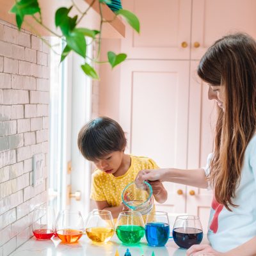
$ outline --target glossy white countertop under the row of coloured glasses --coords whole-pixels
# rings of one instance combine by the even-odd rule
[[[131,256],[152,256],[153,251],[156,256],[186,255],[186,250],[179,248],[173,242],[173,239],[169,239],[164,247],[148,246],[145,237],[136,246],[125,246],[115,235],[108,243],[95,245],[84,235],[77,243],[73,244],[62,243],[57,237],[45,241],[39,241],[35,237],[32,237],[10,256],[115,256],[116,250],[118,250],[120,256],[124,256],[127,248],[129,248]]]

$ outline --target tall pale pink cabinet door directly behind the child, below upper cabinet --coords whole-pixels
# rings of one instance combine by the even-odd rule
[[[129,152],[161,168],[186,168],[189,61],[128,60],[122,65],[120,124]],[[184,212],[186,186],[166,183],[167,212]],[[181,189],[183,195],[178,195]],[[160,208],[159,208],[160,209]]]

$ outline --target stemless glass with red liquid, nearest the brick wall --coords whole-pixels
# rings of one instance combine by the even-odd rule
[[[33,212],[32,231],[38,240],[51,239],[54,235],[54,209],[47,205],[36,206]]]

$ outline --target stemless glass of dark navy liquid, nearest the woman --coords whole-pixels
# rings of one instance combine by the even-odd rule
[[[173,240],[181,248],[188,249],[193,244],[200,244],[203,239],[203,229],[198,216],[177,216],[173,225]]]

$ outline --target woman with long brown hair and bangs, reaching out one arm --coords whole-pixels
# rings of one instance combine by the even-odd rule
[[[206,244],[187,255],[256,255],[256,42],[224,36],[200,60],[198,76],[218,103],[214,150],[197,170],[142,170],[136,177],[214,189]]]

